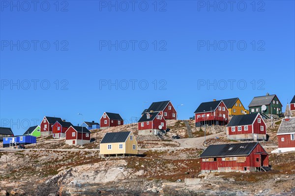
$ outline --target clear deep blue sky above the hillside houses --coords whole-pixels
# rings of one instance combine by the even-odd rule
[[[188,119],[212,99],[269,92],[285,110],[295,94],[294,1],[28,2],[0,2],[0,125],[16,135],[45,115],[130,121],[171,100]]]

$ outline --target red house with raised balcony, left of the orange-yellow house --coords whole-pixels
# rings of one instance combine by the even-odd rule
[[[222,100],[201,103],[195,113],[196,127],[203,125],[226,125],[229,120],[229,110]]]

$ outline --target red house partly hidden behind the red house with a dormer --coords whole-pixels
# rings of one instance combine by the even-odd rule
[[[171,101],[153,102],[148,109],[144,110],[142,116],[147,112],[160,112],[161,115],[167,119],[177,119],[177,112]]]

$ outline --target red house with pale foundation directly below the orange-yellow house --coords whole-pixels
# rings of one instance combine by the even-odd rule
[[[228,140],[266,140],[266,123],[260,113],[234,115],[226,134]]]

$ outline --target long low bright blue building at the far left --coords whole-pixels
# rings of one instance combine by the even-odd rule
[[[31,144],[36,143],[36,137],[35,136],[13,136],[13,137],[6,137],[3,138],[3,148],[9,147],[10,145],[21,145],[21,144]],[[11,143],[11,144],[10,144]]]

